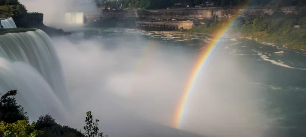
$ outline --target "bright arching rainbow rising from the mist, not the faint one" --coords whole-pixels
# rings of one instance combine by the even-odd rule
[[[246,1],[245,3],[243,3],[241,6],[246,6],[247,4],[249,4],[250,1]],[[234,16],[238,16],[239,14],[241,14],[243,12],[243,10],[234,10],[236,11],[236,13],[234,13]],[[195,82],[197,80],[197,77],[199,76],[203,66],[205,66],[206,62],[208,62],[210,55],[213,53],[215,47],[218,45],[220,38],[223,37],[224,33],[227,31],[228,27],[230,27],[234,21],[237,18],[227,22],[221,29],[219,29],[215,35],[213,36],[213,42],[209,43],[209,45],[206,46],[205,49],[203,49],[200,53],[199,56],[197,57],[194,66],[192,67],[191,70],[191,74],[187,80],[187,85],[184,88],[183,94],[181,95],[179,104],[176,106],[176,110],[174,112],[174,120],[173,120],[173,127],[174,128],[180,128],[182,119],[183,119],[183,115],[184,115],[184,111],[186,109],[186,105],[188,102],[188,98],[190,96],[190,94],[192,93],[192,89],[195,85]]]

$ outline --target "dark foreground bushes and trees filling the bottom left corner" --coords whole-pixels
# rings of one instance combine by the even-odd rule
[[[94,120],[90,111],[86,113],[85,133],[67,125],[58,124],[49,114],[40,116],[37,121],[30,124],[27,112],[24,111],[22,106],[17,105],[14,98],[16,94],[17,90],[8,91],[0,99],[0,136],[103,137],[103,133],[98,132],[97,122],[99,120]]]

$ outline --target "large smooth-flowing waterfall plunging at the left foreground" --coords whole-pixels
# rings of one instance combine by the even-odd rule
[[[61,64],[42,30],[0,35],[0,93],[14,89],[31,118],[65,112],[69,101]]]

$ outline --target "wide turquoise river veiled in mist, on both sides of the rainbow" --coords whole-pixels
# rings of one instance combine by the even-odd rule
[[[100,109],[117,114],[110,106],[119,106],[131,115],[166,126],[172,126],[173,112],[194,61],[215,41],[210,35],[125,28],[66,31],[72,32],[65,37],[72,46],[63,46],[61,38],[53,40],[71,93],[103,89],[124,101],[105,95],[108,105]],[[278,51],[284,54],[274,53]],[[301,122],[306,110],[305,76],[306,52],[221,38],[194,83],[179,128],[217,136],[301,135],[305,125]],[[94,88],[85,88],[89,86]],[[84,95],[71,94],[71,98],[78,100]],[[114,122],[119,117],[126,120],[121,114],[105,119]]]

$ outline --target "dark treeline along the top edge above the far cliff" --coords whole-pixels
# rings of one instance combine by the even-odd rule
[[[195,6],[208,2],[208,0],[119,0],[115,2],[106,0],[96,0],[98,7],[112,6],[118,7],[122,5],[127,9],[165,9],[177,7],[176,3],[182,5]],[[211,0],[216,6],[219,7],[235,7],[240,5],[248,6],[269,6],[269,7],[286,7],[286,6],[305,6],[304,0]]]

